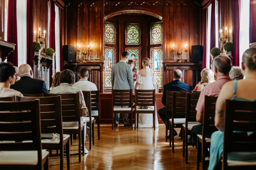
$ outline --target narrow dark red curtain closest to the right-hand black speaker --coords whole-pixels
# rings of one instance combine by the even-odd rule
[[[207,35],[207,8],[203,9],[203,61],[202,61],[202,69],[206,68],[206,55],[207,55],[207,40],[206,40],[206,35]]]

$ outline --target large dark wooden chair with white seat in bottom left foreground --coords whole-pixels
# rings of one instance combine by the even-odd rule
[[[0,169],[48,169],[42,151],[39,100],[0,102]],[[24,142],[22,142],[24,141]]]

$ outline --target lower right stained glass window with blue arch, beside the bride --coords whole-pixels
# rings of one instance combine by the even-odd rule
[[[155,47],[150,49],[151,69],[153,69],[156,76],[156,84],[162,88],[162,47]]]

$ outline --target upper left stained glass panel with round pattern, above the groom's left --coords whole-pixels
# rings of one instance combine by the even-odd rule
[[[115,44],[115,24],[111,22],[105,24],[105,43]]]

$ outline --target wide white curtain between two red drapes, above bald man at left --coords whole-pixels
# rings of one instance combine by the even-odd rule
[[[27,63],[27,0],[17,0],[18,67]]]

